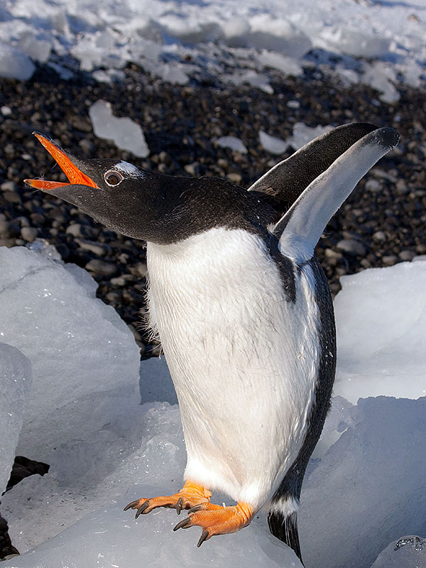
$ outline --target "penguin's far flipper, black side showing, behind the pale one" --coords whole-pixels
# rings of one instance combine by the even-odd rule
[[[276,164],[249,187],[272,198],[279,211],[286,211],[297,197],[348,148],[378,127],[364,122],[344,124],[317,136],[290,158]]]

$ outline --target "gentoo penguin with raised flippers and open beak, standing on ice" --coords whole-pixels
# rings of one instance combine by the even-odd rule
[[[263,506],[301,558],[296,513],[329,408],[336,365],[332,300],[314,249],[356,183],[396,143],[348,124],[275,165],[249,190],[111,159],[80,160],[35,133],[69,183],[25,180],[111,229],[147,241],[151,326],[175,384],[185,484],[140,498],[189,515],[198,542],[249,525]],[[227,493],[234,506],[211,503]]]

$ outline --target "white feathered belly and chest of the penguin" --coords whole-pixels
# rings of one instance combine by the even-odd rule
[[[151,326],[180,404],[185,479],[256,510],[271,498],[307,432],[320,357],[310,266],[295,301],[260,236],[210,229],[148,243]]]

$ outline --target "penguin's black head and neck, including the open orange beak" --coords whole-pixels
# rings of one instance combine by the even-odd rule
[[[34,132],[69,182],[24,180],[134,239],[170,244],[212,227],[264,231],[270,211],[254,192],[220,178],[181,178],[122,160],[82,160]]]

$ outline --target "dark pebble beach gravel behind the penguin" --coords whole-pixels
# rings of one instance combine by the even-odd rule
[[[149,344],[141,326],[146,285],[143,242],[105,229],[65,202],[28,190],[24,178],[46,175],[66,180],[31,132],[48,133],[83,158],[116,157],[172,175],[227,176],[249,187],[290,155],[278,157],[263,150],[259,130],[285,139],[299,121],[308,126],[366,121],[393,126],[401,141],[361,180],[317,246],[332,292],[339,290],[341,275],[425,254],[424,92],[401,87],[398,104],[388,105],[364,85],[347,89],[318,71],[297,79],[271,72],[271,78],[273,95],[213,80],[185,87],[163,84],[136,67],[126,70],[126,82],[121,84],[97,84],[84,75],[64,82],[45,69],[28,82],[0,79],[0,107],[11,109],[10,114],[0,114],[0,246],[47,239],[64,261],[93,275],[98,296],[129,324],[141,355],[157,354],[158,346]],[[94,136],[87,111],[97,99],[111,102],[117,116],[141,124],[149,158],[134,158]],[[227,135],[241,138],[249,153],[214,145],[215,138]],[[18,463],[13,482],[32,473],[42,471]],[[0,520],[0,558],[13,553],[5,528]]]

